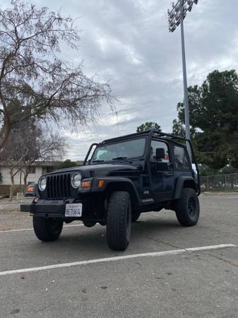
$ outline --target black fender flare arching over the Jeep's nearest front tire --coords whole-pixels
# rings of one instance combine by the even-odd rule
[[[100,181],[104,181],[102,187],[98,187]],[[114,191],[127,191],[131,196],[131,203],[133,208],[142,206],[141,198],[138,190],[131,179],[126,177],[93,177],[90,192],[106,192],[110,194]]]

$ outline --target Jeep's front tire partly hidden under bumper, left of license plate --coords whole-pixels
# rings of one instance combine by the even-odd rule
[[[43,242],[55,241],[61,235],[63,220],[33,216],[33,228],[39,240]]]

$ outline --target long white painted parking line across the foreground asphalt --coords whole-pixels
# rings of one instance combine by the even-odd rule
[[[202,251],[202,250],[207,250],[207,249],[222,249],[225,247],[237,247],[237,245],[221,244],[221,245],[211,245],[211,246],[203,246],[203,247],[191,247],[188,249],[172,249],[170,251],[162,251],[162,252],[121,255],[119,257],[106,257],[104,259],[89,259],[88,261],[74,261],[71,263],[31,267],[29,269],[13,269],[11,271],[0,271],[0,276],[6,276],[6,275],[14,274],[14,273],[27,273],[30,271],[44,271],[44,270],[48,270],[48,269],[62,269],[64,267],[80,266],[80,265],[95,264],[95,263],[104,263],[107,261],[120,261],[122,259],[136,259],[138,257],[161,257],[161,256],[165,256],[165,255],[182,254],[185,252]]]

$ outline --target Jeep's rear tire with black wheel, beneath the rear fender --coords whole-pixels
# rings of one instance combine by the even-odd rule
[[[181,199],[175,204],[177,220],[183,226],[194,226],[198,223],[200,207],[198,195],[191,188],[184,188]]]

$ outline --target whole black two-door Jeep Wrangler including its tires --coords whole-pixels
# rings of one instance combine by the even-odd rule
[[[83,166],[43,175],[34,194],[38,199],[20,211],[31,213],[42,241],[56,240],[64,222],[82,220],[87,227],[107,225],[109,247],[124,250],[131,222],[142,212],[173,210],[184,226],[199,218],[200,179],[191,142],[155,130],[93,143]]]

